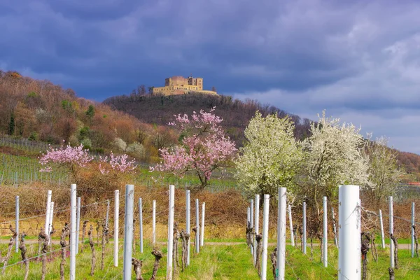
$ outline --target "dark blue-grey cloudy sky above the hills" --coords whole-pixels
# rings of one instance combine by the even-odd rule
[[[420,1],[1,0],[0,69],[102,101],[169,76],[420,153]]]

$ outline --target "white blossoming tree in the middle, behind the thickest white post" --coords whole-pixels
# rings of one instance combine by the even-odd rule
[[[311,124],[311,137],[303,141],[304,156],[300,195],[319,217],[323,196],[336,200],[339,184],[365,186],[368,159],[363,153],[365,141],[360,128],[340,123],[338,118],[318,115]]]

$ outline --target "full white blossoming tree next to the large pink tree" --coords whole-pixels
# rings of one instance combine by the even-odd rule
[[[276,195],[279,187],[293,188],[302,159],[290,118],[255,113],[245,130],[246,143],[236,160],[237,179],[250,193]]]

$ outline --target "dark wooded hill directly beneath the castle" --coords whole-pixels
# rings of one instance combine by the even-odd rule
[[[310,120],[300,116],[286,113],[270,105],[262,105],[260,102],[248,99],[241,101],[225,95],[210,95],[189,93],[181,95],[162,94],[131,94],[111,97],[104,100],[104,104],[118,111],[124,111],[138,118],[144,123],[167,125],[174,120],[174,115],[191,114],[201,109],[208,110],[216,107],[215,113],[223,118],[223,127],[230,138],[234,139],[239,146],[244,141],[244,130],[249,120],[255,116],[255,111],[260,111],[263,116],[270,113],[278,113],[280,117],[290,116],[295,123],[295,137],[304,139],[309,132]]]

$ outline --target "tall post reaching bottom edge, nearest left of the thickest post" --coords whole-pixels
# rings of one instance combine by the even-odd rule
[[[277,205],[277,280],[284,280],[286,269],[286,190],[286,188],[279,188]]]

